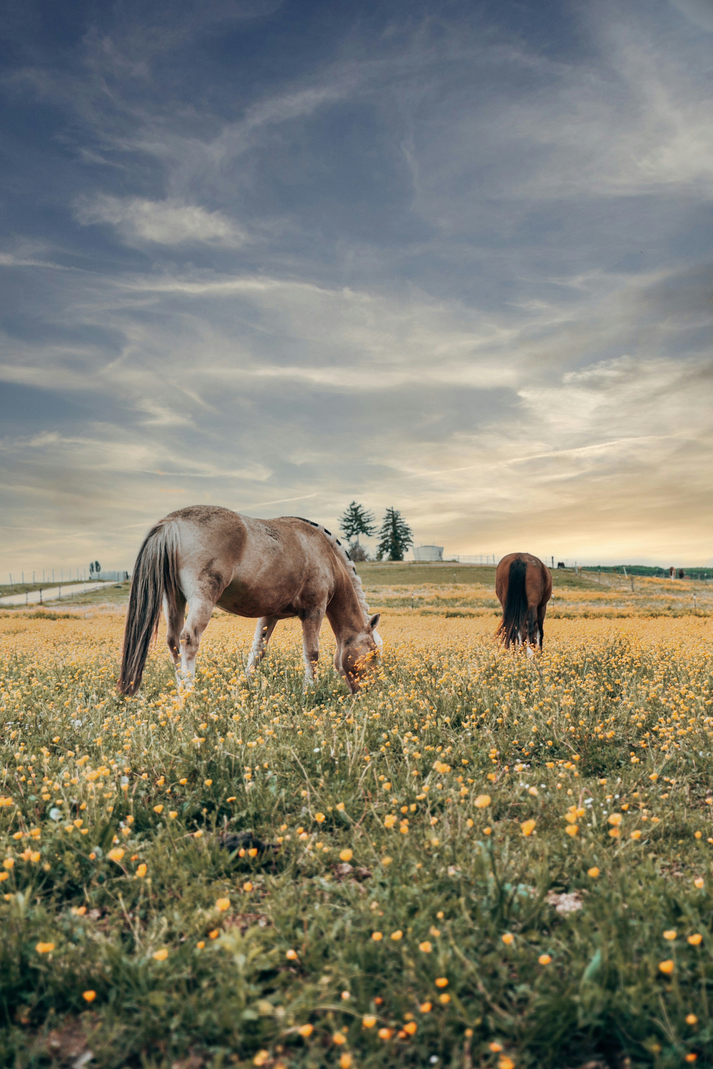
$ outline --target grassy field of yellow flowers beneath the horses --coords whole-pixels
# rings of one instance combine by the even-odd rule
[[[2,1065],[711,1065],[713,620],[397,587],[356,699],[326,628],[125,699],[115,608],[0,619]]]

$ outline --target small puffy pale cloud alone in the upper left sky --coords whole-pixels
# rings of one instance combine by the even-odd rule
[[[220,212],[206,212],[177,200],[150,201],[141,197],[99,195],[80,198],[77,220],[84,227],[109,223],[126,245],[217,245],[236,248],[245,232]]]

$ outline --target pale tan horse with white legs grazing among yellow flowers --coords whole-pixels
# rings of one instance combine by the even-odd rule
[[[290,617],[303,624],[305,685],[314,679],[325,616],[337,638],[335,668],[352,694],[359,690],[369,654],[382,646],[378,614],[369,617],[361,579],[325,527],[298,516],[252,520],[197,505],[159,520],[139,549],[124,630],[122,694],[139,688],[161,608],[176,676],[191,685],[215,605],[235,616],[259,617],[248,673],[265,655],[278,620]]]

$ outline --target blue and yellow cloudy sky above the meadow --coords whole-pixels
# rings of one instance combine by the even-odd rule
[[[713,0],[6,0],[0,571],[352,499],[713,562],[712,68]]]

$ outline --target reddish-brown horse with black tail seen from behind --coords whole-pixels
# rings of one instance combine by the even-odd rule
[[[542,649],[544,618],[552,598],[552,574],[530,553],[509,553],[495,573],[495,593],[502,606],[496,634],[511,642],[530,642]]]

